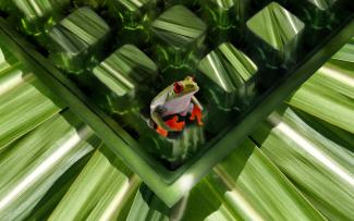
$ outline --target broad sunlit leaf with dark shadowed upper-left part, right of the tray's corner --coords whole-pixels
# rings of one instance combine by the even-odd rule
[[[324,220],[249,139],[192,191],[187,208],[185,220]]]

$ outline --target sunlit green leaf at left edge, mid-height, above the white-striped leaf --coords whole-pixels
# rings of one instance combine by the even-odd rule
[[[0,63],[3,70],[0,72],[1,149],[58,113],[60,108],[44,94],[42,85],[33,73],[22,71],[21,63]]]

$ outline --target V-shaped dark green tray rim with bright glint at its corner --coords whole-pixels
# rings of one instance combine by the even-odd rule
[[[308,60],[293,70],[289,77],[281,79],[270,93],[263,96],[263,100],[244,115],[243,121],[223,134],[224,136],[217,140],[212,148],[203,152],[203,158],[191,160],[174,172],[167,171],[149,156],[137,151],[136,146],[132,147],[135,142],[118,124],[110,122],[109,118],[98,108],[90,105],[85,96],[65,79],[48,59],[40,56],[33,46],[22,39],[3,19],[0,19],[0,44],[5,44],[5,47],[12,49],[14,54],[25,62],[47,87],[56,95],[60,95],[71,110],[95,130],[114,154],[123,158],[124,162],[142,177],[157,196],[168,206],[173,206],[215,164],[236,148],[283,99],[312,76],[354,35],[353,17],[349,19],[349,22],[339,29],[339,33],[327,36],[327,42],[318,46],[313,54],[308,54]],[[230,144],[232,145],[230,146]]]

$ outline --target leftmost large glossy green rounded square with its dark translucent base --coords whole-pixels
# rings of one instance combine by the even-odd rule
[[[89,8],[76,9],[49,32],[52,41],[50,57],[58,66],[80,73],[87,62],[87,53],[107,38],[109,26]]]

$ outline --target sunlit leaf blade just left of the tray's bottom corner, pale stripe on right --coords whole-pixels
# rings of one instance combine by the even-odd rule
[[[105,154],[102,154],[102,150]],[[141,183],[124,163],[101,147],[60,201],[49,220],[114,220]]]

